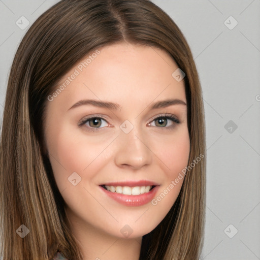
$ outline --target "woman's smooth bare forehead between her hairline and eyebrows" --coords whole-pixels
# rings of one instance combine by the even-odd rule
[[[56,100],[68,106],[84,98],[108,100],[122,108],[156,99],[186,102],[184,81],[172,76],[176,69],[171,56],[155,47],[105,46],[86,55],[59,80],[56,88],[64,87]]]

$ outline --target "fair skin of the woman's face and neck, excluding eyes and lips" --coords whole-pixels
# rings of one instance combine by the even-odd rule
[[[190,144],[186,105],[149,109],[151,104],[167,99],[186,103],[184,81],[172,77],[178,66],[163,50],[126,43],[99,50],[100,54],[53,101],[47,101],[45,148],[84,260],[138,260],[142,236],[164,219],[183,179],[157,205],[137,207],[119,204],[99,185],[150,180],[160,184],[156,198],[187,166]],[[114,102],[121,110],[92,105],[70,109],[84,99]],[[180,123],[167,119],[160,126],[153,117],[163,113],[175,115]],[[93,120],[78,126],[81,119],[96,114],[106,116],[99,119],[99,126]],[[134,126],[128,134],[119,127],[125,120]],[[100,131],[87,131],[91,127]],[[74,172],[81,177],[76,186],[68,181]],[[126,224],[133,230],[129,237],[120,232]]]

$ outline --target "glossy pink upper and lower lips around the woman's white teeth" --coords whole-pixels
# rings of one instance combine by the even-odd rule
[[[155,186],[149,192],[139,195],[125,195],[122,193],[111,192],[100,185],[100,188],[109,196],[111,199],[117,201],[120,204],[126,206],[142,206],[149,203],[154,197],[159,188],[159,184],[151,181],[127,181],[127,182],[107,182],[107,186]]]

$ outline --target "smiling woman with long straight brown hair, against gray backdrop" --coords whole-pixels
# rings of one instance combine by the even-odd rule
[[[147,0],[62,0],[10,73],[2,257],[199,259],[205,159],[199,77],[172,19]]]

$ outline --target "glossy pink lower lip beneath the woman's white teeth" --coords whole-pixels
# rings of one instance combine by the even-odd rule
[[[100,187],[110,198],[126,206],[142,206],[149,203],[154,198],[155,193],[159,188],[159,186],[155,186],[149,192],[139,195],[125,195],[122,193],[108,191],[102,186]]]

